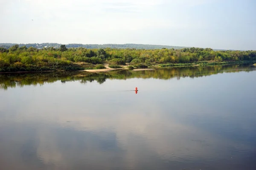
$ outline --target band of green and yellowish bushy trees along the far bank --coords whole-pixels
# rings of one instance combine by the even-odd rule
[[[255,61],[256,51],[213,51],[211,48],[135,49],[135,48],[60,48],[13,45],[0,47],[0,72],[83,70],[96,64],[155,65],[166,63],[202,63],[222,61]],[[88,66],[84,63],[90,63]]]

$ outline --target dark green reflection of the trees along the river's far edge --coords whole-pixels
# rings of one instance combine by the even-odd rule
[[[254,66],[250,65],[214,65],[207,67],[172,67],[157,68],[150,71],[129,71],[117,70],[106,73],[88,73],[82,72],[51,72],[51,73],[26,73],[26,74],[0,74],[0,89],[13,88],[24,85],[44,85],[61,80],[62,83],[70,81],[80,81],[81,83],[96,81],[99,84],[107,79],[131,79],[131,78],[154,78],[154,79],[172,79],[180,77],[203,77],[212,74],[224,72],[253,71]]]

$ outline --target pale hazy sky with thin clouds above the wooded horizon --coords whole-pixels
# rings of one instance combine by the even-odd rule
[[[255,0],[0,0],[0,42],[256,50]]]

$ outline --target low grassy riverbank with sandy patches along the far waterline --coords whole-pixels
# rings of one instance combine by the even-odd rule
[[[70,65],[58,65],[53,67],[45,67],[45,66],[35,66],[31,65],[28,68],[25,67],[10,67],[10,68],[0,68],[0,73],[32,73],[32,72],[53,72],[53,71],[87,71],[91,73],[99,73],[99,72],[108,72],[114,70],[122,70],[129,69],[131,71],[143,71],[143,70],[154,70],[155,68],[172,68],[172,67],[191,67],[191,66],[210,66],[210,65],[239,65],[239,64],[252,64],[256,66],[256,61],[224,61],[224,62],[216,62],[216,61],[204,61],[204,62],[194,62],[194,63],[166,63],[166,64],[157,64],[149,63],[146,64],[137,64],[131,65],[130,63],[126,63],[126,65],[119,65],[121,68],[110,68],[108,63],[104,64],[103,69],[96,69],[97,65],[93,65],[91,63],[86,62],[77,62],[71,63]],[[255,63],[255,64],[253,64]]]

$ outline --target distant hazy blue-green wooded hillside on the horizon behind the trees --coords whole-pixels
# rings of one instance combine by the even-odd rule
[[[0,47],[10,48],[11,46],[15,45],[15,43],[0,43]],[[60,48],[61,44],[58,43],[34,43],[34,44],[18,44],[19,46],[26,46],[26,47],[35,47],[35,48],[44,48],[44,47],[55,47]],[[179,47],[179,46],[169,46],[169,45],[147,45],[147,44],[66,44],[67,48],[136,48],[136,49],[162,49],[162,48],[174,48],[174,49],[181,49],[186,47]]]

